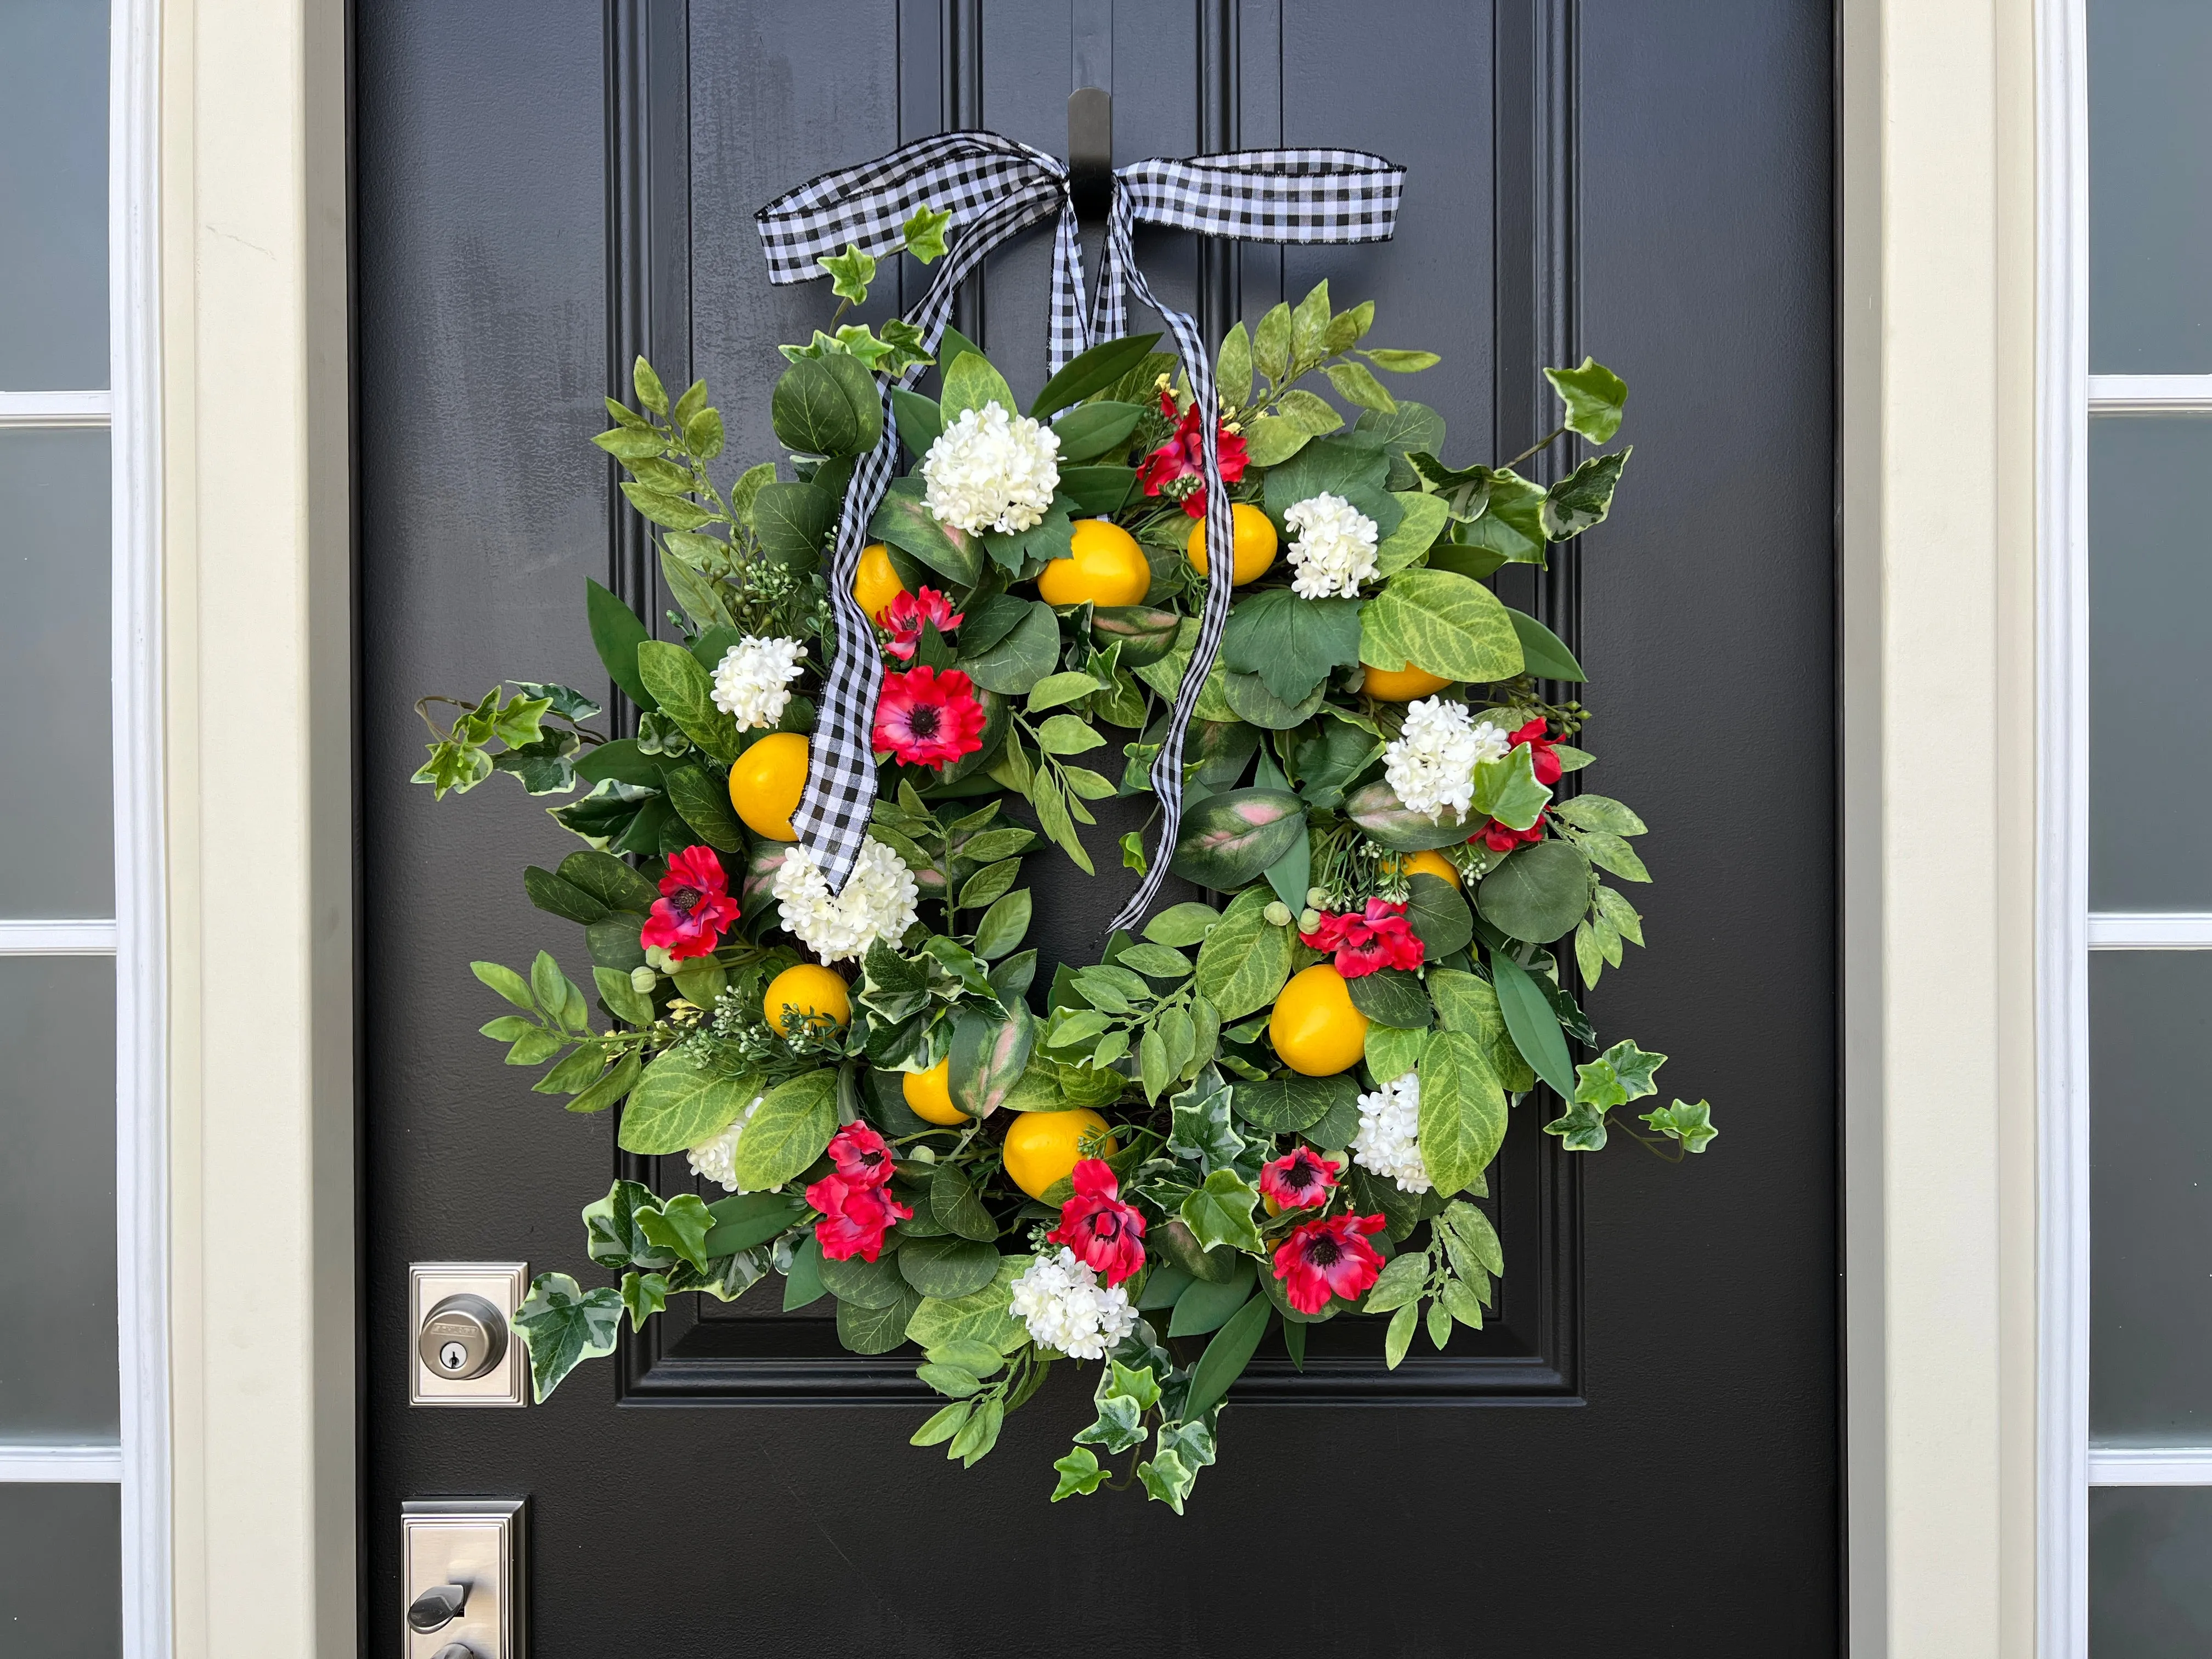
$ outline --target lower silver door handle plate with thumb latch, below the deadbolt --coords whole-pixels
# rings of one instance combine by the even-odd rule
[[[529,1586],[522,1498],[400,1504],[400,1652],[522,1659]]]

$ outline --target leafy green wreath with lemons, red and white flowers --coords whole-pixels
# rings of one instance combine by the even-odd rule
[[[584,929],[593,991],[546,951],[476,962],[511,1004],[482,1033],[546,1068],[535,1093],[622,1106],[624,1150],[728,1194],[617,1181],[584,1208],[619,1283],[533,1281],[540,1400],[668,1296],[830,1296],[847,1349],[920,1349],[947,1405],[914,1444],[962,1464],[1057,1365],[1097,1363],[1053,1500],[1128,1455],[1119,1484],[1181,1513],[1270,1329],[1303,1365],[1310,1325],[1389,1314],[1396,1367],[1420,1332],[1482,1327],[1504,1272],[1484,1170],[1540,1082],[1573,1152],[1655,1093],[1663,1055],[1599,1051],[1575,1000],[1644,942],[1608,883],[1648,880],[1644,821],[1575,785],[1590,712],[1546,686],[1582,666],[1484,584],[1604,522],[1628,449],[1548,487],[1515,467],[1610,442],[1626,385],[1546,369],[1557,431],[1451,467],[1438,414],[1380,378],[1438,356],[1367,345],[1374,305],[1323,283],[1197,374],[1157,334],[1106,338],[1024,414],[956,330],[845,321],[878,254],[940,259],[951,217],[818,259],[838,307],[783,347],[790,456],[726,491],[706,383],[670,396],[637,361],[595,442],[679,608],[657,637],[597,584],[586,604],[635,734],[595,730],[575,688],[502,681],[449,723],[429,710],[451,699],[418,706],[416,781],[575,796],[549,810],[584,847],[524,891]],[[838,582],[832,531],[887,431],[911,471]],[[841,606],[865,657],[841,661]],[[876,787],[841,869],[794,814],[854,664],[880,675]],[[1157,858],[1217,902],[1035,987],[1024,860],[1093,874],[1088,803],[1146,792],[1172,796],[1172,841],[1124,836],[1121,863],[1146,896]],[[1663,1157],[1714,1137],[1705,1102],[1637,1121]]]

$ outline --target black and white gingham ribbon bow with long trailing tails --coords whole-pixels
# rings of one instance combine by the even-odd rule
[[[1044,150],[998,133],[940,133],[902,144],[889,155],[838,173],[825,173],[754,215],[768,252],[772,283],[821,276],[823,254],[847,243],[867,254],[887,254],[902,241],[905,221],[920,206],[951,210],[949,252],[909,321],[922,332],[925,349],[936,349],[960,283],[984,254],[1009,237],[1057,212],[1053,239],[1053,319],[1048,367],[1060,372],[1077,352],[1128,332],[1126,290],[1159,312],[1175,336],[1175,352],[1199,409],[1214,409],[1214,367],[1199,338],[1199,325],[1161,305],[1137,270],[1130,234],[1137,221],[1201,230],[1243,241],[1387,241],[1398,223],[1405,168],[1360,150],[1234,150],[1188,161],[1133,161],[1113,175],[1113,208],[1106,223],[1104,272],[1088,314],[1082,305],[1082,241],[1068,168]],[[920,365],[900,383],[920,376]],[[821,858],[830,885],[841,889],[867,834],[876,803],[876,757],[869,745],[883,661],[876,635],[852,597],[867,524],[883,502],[898,458],[891,420],[891,380],[883,392],[883,440],[854,469],[838,520],[830,562],[830,604],[836,619],[836,661],[823,690],[814,728],[814,765],[792,823],[799,838]],[[1203,420],[1206,544],[1234,546],[1230,498],[1221,487],[1217,422]],[[1152,790],[1161,803],[1159,852],[1135,898],[1113,920],[1135,925],[1150,907],[1175,854],[1183,821],[1183,732],[1199,690],[1221,648],[1230,615],[1232,560],[1208,560],[1206,611],[1197,648],[1175,695],[1166,741],[1152,759]]]

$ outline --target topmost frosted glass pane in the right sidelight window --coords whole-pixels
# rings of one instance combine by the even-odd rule
[[[2212,374],[2208,80],[2203,0],[2090,0],[2093,374]]]

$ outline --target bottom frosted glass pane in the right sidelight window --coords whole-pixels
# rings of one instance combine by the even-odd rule
[[[2093,1486],[2090,1659],[2212,1652],[2212,1489]]]

